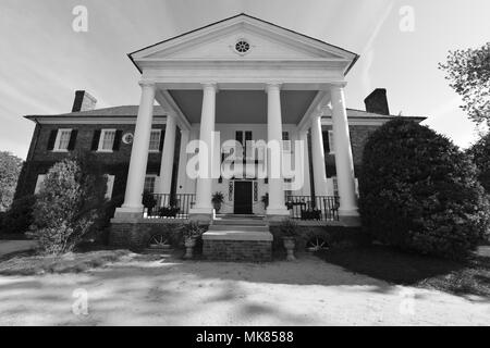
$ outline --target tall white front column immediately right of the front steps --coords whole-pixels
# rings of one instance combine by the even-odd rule
[[[289,215],[284,203],[284,179],[282,176],[282,115],[279,84],[268,84],[267,91],[267,176],[269,182],[269,206],[267,215]],[[275,145],[275,147],[274,147]],[[275,149],[275,151],[273,150]],[[278,153],[279,152],[279,153]]]

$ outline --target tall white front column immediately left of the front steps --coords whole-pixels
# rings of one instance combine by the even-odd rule
[[[205,177],[198,177],[196,183],[196,204],[191,210],[192,214],[212,214],[211,190],[212,190],[212,159],[213,159],[213,138],[215,119],[216,119],[216,84],[204,84],[203,111],[200,115],[199,139],[203,147],[199,147],[199,156],[207,153],[208,171]],[[200,162],[199,162],[200,163]],[[199,164],[200,165],[200,164]]]

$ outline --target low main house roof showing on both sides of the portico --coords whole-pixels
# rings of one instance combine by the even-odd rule
[[[61,114],[51,114],[51,115],[26,115],[26,119],[35,119],[35,117],[99,117],[99,116],[108,116],[108,117],[136,117],[138,114],[138,105],[122,105],[122,107],[113,107],[113,108],[103,108],[103,109],[95,109],[90,111],[78,111],[78,112],[69,112]],[[160,105],[154,107],[154,116],[166,116],[163,108]],[[383,115],[379,113],[367,112],[364,110],[357,109],[348,109],[347,108],[347,116],[354,119],[393,119],[397,115]],[[414,120],[419,120],[419,122],[426,120],[422,116],[404,116]]]

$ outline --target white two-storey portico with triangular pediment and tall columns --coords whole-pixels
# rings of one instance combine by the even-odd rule
[[[258,197],[268,194],[264,211],[267,219],[290,216],[286,191],[310,196],[313,187],[315,196],[332,195],[327,189],[321,132],[322,116],[331,114],[338,213],[341,222],[358,224],[344,99],[345,74],[357,59],[355,53],[241,14],[133,52],[130,58],[142,72],[142,97],[125,199],[117,209],[118,219],[143,216],[142,196],[157,101],[167,113],[157,194],[175,194],[172,163],[180,132],[176,192],[195,195],[189,219],[212,220],[211,196],[220,188],[228,189],[225,201],[232,201],[234,188],[230,183],[234,178],[223,179],[220,171],[221,147],[229,139],[242,140],[244,147],[245,140],[264,140],[279,147],[275,152],[270,148],[266,152],[267,177],[252,176],[253,201],[258,204]],[[207,174],[196,178],[186,171],[188,160],[195,156],[187,151],[191,140],[200,141],[199,171]],[[301,140],[304,147],[301,151],[294,146],[285,149],[287,140]],[[301,187],[289,189],[285,181],[290,178],[281,165],[284,161],[304,169]]]

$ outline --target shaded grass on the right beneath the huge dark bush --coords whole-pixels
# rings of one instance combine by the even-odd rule
[[[355,249],[330,249],[319,254],[347,271],[389,283],[438,289],[456,295],[490,297],[490,257],[474,254],[456,262],[413,254],[372,245]]]

